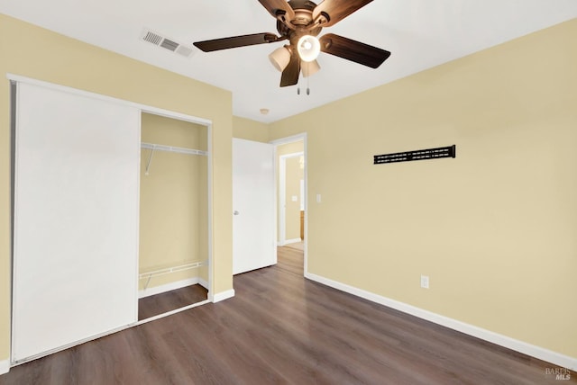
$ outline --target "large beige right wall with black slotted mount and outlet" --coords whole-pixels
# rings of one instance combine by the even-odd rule
[[[575,36],[572,20],[271,124],[307,131],[309,272],[577,357]]]

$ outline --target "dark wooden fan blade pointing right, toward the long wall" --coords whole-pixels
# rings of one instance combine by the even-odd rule
[[[326,0],[325,0],[326,1]],[[322,3],[321,3],[322,4]],[[327,33],[320,39],[321,50],[339,58],[346,58],[363,66],[376,68],[390,56],[388,50],[370,46],[360,41]]]

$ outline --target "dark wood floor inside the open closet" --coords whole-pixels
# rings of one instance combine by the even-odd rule
[[[171,310],[206,300],[208,291],[199,284],[151,295],[138,300],[138,320],[151,318]]]

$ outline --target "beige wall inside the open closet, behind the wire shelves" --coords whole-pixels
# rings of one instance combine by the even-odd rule
[[[143,142],[206,151],[206,127],[142,113]],[[148,175],[146,166],[151,159]],[[140,273],[207,262],[206,157],[150,149],[141,152]],[[206,281],[206,269],[202,279]],[[201,269],[142,279],[142,290],[200,277]]]

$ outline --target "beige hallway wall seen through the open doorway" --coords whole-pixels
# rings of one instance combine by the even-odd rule
[[[277,166],[280,166],[280,157],[288,154],[296,154],[304,151],[302,140],[277,147]],[[289,157],[286,160],[286,215],[285,215],[285,240],[297,239],[300,237],[300,180],[304,179],[304,169],[300,168],[299,157]],[[279,172],[277,172],[277,208],[279,210],[277,218],[277,240],[280,239],[280,208],[283,202],[280,201]],[[298,201],[291,201],[293,195],[298,196]]]

